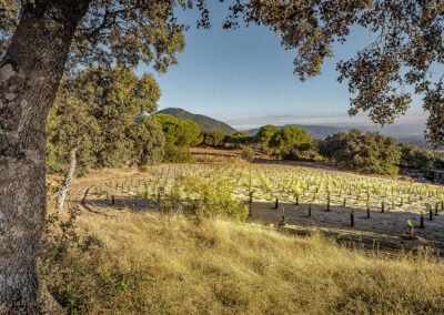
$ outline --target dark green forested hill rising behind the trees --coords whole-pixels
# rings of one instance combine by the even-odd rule
[[[198,123],[200,130],[221,131],[221,132],[224,132],[228,134],[232,134],[232,133],[236,132],[236,130],[234,128],[230,126],[229,124],[226,124],[222,121],[219,121],[219,120],[205,116],[205,115],[193,114],[183,109],[168,108],[168,109],[159,111],[158,113],[169,114],[169,115],[175,116],[178,119],[183,119],[183,120],[189,119],[189,120],[195,121]]]

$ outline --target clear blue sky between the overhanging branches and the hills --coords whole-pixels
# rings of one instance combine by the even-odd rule
[[[305,82],[293,75],[295,51],[285,51],[280,39],[264,27],[223,30],[225,6],[210,6],[212,28],[198,30],[196,11],[178,11],[190,24],[179,64],[155,74],[162,90],[159,109],[182,108],[243,130],[263,124],[370,124],[366,115],[349,118],[346,84],[339,84],[335,64],[370,42],[367,31],[356,29],[349,42],[336,45],[322,74]],[[150,71],[141,67],[139,71]],[[423,122],[421,102],[398,123]]]

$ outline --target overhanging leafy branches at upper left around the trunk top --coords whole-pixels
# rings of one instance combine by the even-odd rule
[[[21,4],[20,4],[21,2]],[[8,47],[18,20],[26,6],[36,9],[59,6],[58,1],[4,0],[0,4],[0,54]],[[112,64],[135,67],[140,61],[165,72],[176,64],[175,53],[184,49],[183,31],[174,17],[178,1],[99,1],[82,0],[88,11],[80,20],[73,35],[67,69],[78,65],[111,67]]]

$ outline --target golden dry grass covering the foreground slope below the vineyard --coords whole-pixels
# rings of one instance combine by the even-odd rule
[[[122,212],[83,214],[104,247],[47,275],[71,313],[443,314],[444,266],[384,260],[258,224]]]

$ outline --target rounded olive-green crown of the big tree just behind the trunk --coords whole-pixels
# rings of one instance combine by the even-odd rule
[[[157,110],[159,98],[155,80],[139,79],[132,69],[91,68],[65,78],[48,119],[48,165],[63,170],[74,146],[79,166],[160,162],[162,131],[144,116]]]

